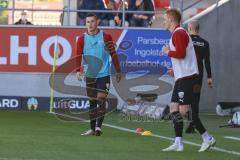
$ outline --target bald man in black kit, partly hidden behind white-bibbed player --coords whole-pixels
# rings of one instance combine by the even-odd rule
[[[197,63],[198,63],[198,70],[199,70],[199,79],[198,79],[198,86],[199,92],[194,94],[194,101],[192,107],[192,117],[198,116],[199,112],[199,101],[200,101],[200,93],[203,81],[203,73],[204,73],[204,66],[207,72],[207,83],[209,88],[213,87],[213,80],[211,74],[211,65],[210,65],[210,49],[209,43],[199,36],[199,23],[196,20],[190,21],[188,23],[188,32],[191,36],[193,41],[193,46],[197,55]],[[203,66],[204,63],[204,66]],[[193,122],[190,122],[188,127],[186,128],[186,133],[195,133]]]

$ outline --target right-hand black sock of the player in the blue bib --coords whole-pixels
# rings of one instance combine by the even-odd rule
[[[101,128],[106,113],[106,98],[99,98],[98,101],[98,112],[97,112],[97,127]]]

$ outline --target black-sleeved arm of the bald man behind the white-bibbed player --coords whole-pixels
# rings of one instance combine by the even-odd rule
[[[213,87],[213,80],[212,80],[212,72],[211,72],[211,63],[210,63],[210,49],[209,49],[209,44],[208,42],[205,42],[205,51],[204,51],[204,66],[207,72],[207,77],[208,77],[208,86],[210,88]]]

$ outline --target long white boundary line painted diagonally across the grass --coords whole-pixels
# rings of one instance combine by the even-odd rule
[[[76,119],[76,120],[81,120],[82,121],[82,119],[78,118],[78,117],[73,117],[73,116],[69,116],[69,115],[65,115],[65,114],[59,114],[59,113],[53,113],[53,114],[60,115],[60,116],[66,116],[68,118],[72,118],[72,119]],[[84,121],[84,122],[87,122],[87,121]],[[111,124],[107,124],[107,123],[103,123],[103,126],[114,128],[114,129],[121,130],[121,131],[130,132],[130,133],[136,133],[135,130],[124,128],[124,127],[119,127],[119,126],[115,126],[115,125],[111,125]],[[165,140],[169,140],[169,141],[174,141],[174,138],[160,136],[160,135],[157,135],[157,134],[153,134],[152,137],[161,138],[161,139],[165,139]],[[201,147],[200,144],[197,144],[197,143],[194,143],[194,142],[190,142],[190,141],[183,141],[183,143],[189,144],[189,145],[192,145],[192,146],[196,146],[196,147]],[[219,151],[219,152],[224,152],[224,153],[240,156],[240,152],[236,152],[236,151],[229,151],[229,150],[218,148],[218,147],[211,147],[211,149],[215,150],[215,151]]]

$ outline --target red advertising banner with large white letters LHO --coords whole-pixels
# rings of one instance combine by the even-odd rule
[[[57,65],[75,56],[76,40],[85,29],[54,27],[0,27],[1,72],[51,72],[56,35],[60,47]],[[107,29],[116,42],[122,30]]]

